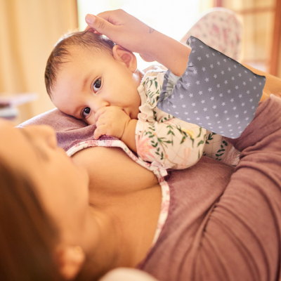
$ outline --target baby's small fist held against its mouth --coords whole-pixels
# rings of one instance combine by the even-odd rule
[[[106,135],[121,139],[131,118],[120,107],[105,106],[96,112],[95,120],[97,129],[93,133],[94,138]]]

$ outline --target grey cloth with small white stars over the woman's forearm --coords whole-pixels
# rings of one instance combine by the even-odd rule
[[[238,138],[254,119],[266,77],[254,74],[190,36],[192,51],[183,76],[170,70],[157,107],[183,121],[228,138]]]

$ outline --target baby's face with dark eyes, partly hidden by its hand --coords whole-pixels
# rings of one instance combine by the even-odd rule
[[[91,54],[81,49],[71,52],[69,62],[59,70],[53,104],[67,115],[96,124],[100,107],[118,106],[131,119],[138,119],[141,98],[140,77],[122,59],[112,55]]]

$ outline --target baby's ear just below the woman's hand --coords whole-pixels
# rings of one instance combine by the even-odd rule
[[[136,71],[138,63],[136,60],[136,55],[134,55],[131,51],[127,50],[126,48],[123,48],[122,46],[115,45],[112,48],[112,55],[115,60],[128,67],[131,72]]]

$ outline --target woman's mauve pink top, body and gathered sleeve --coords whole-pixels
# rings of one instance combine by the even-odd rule
[[[260,102],[234,168],[209,157],[170,172],[170,209],[137,268],[161,281],[279,280],[281,98]]]

